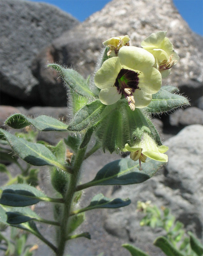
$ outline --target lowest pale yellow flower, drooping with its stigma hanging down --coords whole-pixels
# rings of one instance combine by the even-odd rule
[[[145,163],[147,157],[160,162],[168,162],[168,156],[163,154],[168,149],[167,146],[157,146],[155,141],[147,133],[144,133],[142,139],[137,141],[133,147],[125,144],[122,151],[130,151],[130,158],[134,161],[139,159],[140,170],[142,170],[141,162]]]

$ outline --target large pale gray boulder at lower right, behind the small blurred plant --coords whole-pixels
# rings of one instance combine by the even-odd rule
[[[150,244],[162,232],[159,229],[139,226],[144,215],[136,211],[136,205],[138,200],[151,200],[158,207],[169,207],[187,230],[191,230],[199,238],[202,237],[202,134],[202,125],[185,127],[164,143],[169,146],[169,162],[165,166],[164,175],[159,171],[144,183],[127,188],[124,186],[113,194],[113,197],[129,197],[132,203],[112,210],[110,214],[108,212],[104,227],[110,234],[117,237],[127,236],[132,244],[150,252]],[[158,251],[156,253],[154,255],[161,255]]]

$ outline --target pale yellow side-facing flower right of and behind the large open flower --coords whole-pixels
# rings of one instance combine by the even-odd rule
[[[172,66],[180,59],[169,38],[165,37],[166,33],[167,31],[158,31],[141,42],[141,46],[153,54],[155,58],[154,67],[159,69],[162,77],[168,76]]]

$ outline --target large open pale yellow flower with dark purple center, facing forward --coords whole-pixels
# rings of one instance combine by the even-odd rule
[[[123,46],[118,57],[105,60],[94,76],[95,85],[101,89],[100,101],[111,105],[124,95],[132,110],[148,106],[152,94],[162,85],[162,76],[153,68],[154,62],[150,52],[135,46]]]

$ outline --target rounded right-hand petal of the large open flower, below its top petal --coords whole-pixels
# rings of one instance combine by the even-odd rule
[[[147,93],[156,93],[162,86],[162,76],[156,68],[147,69],[139,74],[139,88]]]

